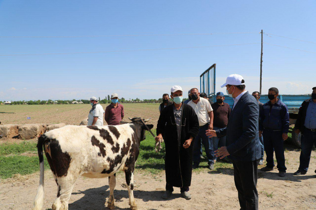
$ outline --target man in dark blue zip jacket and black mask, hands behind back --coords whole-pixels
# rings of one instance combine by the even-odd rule
[[[270,101],[263,105],[260,113],[259,134],[263,135],[267,166],[261,171],[272,171],[274,167],[273,151],[276,154],[277,169],[279,176],[284,177],[286,172],[283,141],[288,138],[289,111],[286,105],[277,98],[279,90],[275,87],[269,89]]]

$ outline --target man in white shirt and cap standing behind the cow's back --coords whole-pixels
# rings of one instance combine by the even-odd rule
[[[98,103],[96,97],[90,98],[90,104],[92,106],[88,114],[88,125],[103,126],[104,110],[103,107]]]

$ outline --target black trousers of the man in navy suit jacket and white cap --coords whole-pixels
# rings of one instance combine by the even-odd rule
[[[259,160],[254,161],[235,161],[234,181],[238,191],[240,209],[258,209],[258,164]]]

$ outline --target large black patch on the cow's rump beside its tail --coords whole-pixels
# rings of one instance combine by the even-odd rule
[[[70,155],[68,152],[62,152],[58,140],[48,139],[46,141],[50,141],[49,147],[51,155],[49,155],[49,153],[45,153],[45,155],[52,172],[57,177],[67,176],[71,161]]]

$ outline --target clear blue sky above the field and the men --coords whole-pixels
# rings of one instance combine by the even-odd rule
[[[0,36],[258,32],[95,38],[0,38],[0,55],[260,43],[266,33],[316,42],[314,1],[0,0]],[[316,44],[264,35],[264,42],[316,52]],[[231,73],[259,89],[261,44],[75,55],[0,56],[0,100],[160,98],[173,85],[199,87],[216,63],[216,90]],[[263,93],[311,93],[316,54],[264,44]]]

